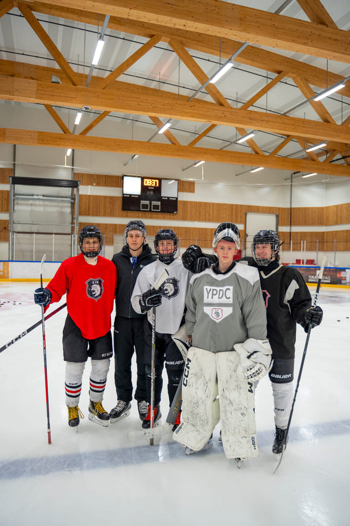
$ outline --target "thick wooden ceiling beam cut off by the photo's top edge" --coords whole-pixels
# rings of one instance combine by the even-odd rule
[[[42,0],[48,4],[52,0]],[[346,31],[215,0],[60,0],[60,5],[347,62]],[[160,32],[156,32],[160,33]]]

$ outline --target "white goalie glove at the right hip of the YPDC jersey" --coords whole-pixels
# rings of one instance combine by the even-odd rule
[[[271,370],[272,349],[269,340],[249,338],[243,343],[235,343],[233,348],[240,357],[237,368],[239,380],[260,380]]]

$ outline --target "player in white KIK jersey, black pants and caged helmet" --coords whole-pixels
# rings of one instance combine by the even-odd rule
[[[146,387],[148,414],[142,427],[150,427],[151,413],[151,340],[152,307],[157,307],[156,316],[156,361],[155,361],[155,399],[153,422],[157,424],[160,414],[160,396],[162,390],[162,370],[165,366],[168,375],[168,395],[171,402],[181,381],[184,361],[171,336],[184,323],[186,292],[191,272],[184,268],[181,259],[175,259],[178,238],[171,228],[161,229],[155,236],[155,249],[158,259],[143,268],[137,277],[131,295],[131,304],[136,312],[147,311],[144,325],[144,361],[146,369]],[[169,277],[159,290],[153,285],[164,268]],[[159,423],[159,422],[158,422]],[[180,414],[175,424],[180,423]]]

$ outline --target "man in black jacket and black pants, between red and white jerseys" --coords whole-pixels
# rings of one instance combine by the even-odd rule
[[[147,230],[140,220],[129,221],[125,228],[126,245],[115,254],[117,267],[116,318],[114,322],[115,384],[118,402],[110,411],[110,422],[119,422],[130,414],[132,400],[131,358],[135,346],[137,384],[135,399],[140,419],[147,415],[145,365],[143,362],[143,321],[145,315],[133,310],[131,292],[141,269],[157,259],[146,244]]]

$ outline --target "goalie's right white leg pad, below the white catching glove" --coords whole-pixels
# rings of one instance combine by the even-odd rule
[[[238,378],[240,358],[235,351],[218,352],[215,357],[225,455],[228,459],[258,457],[253,382]]]

